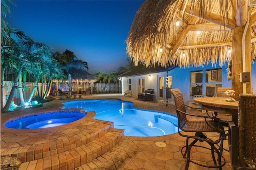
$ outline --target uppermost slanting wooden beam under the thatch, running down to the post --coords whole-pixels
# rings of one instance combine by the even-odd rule
[[[186,6],[185,13],[195,16],[195,17],[198,17],[198,18],[201,18],[200,11],[197,9],[194,9],[193,14],[190,14],[190,6],[189,5]],[[211,12],[206,12],[206,16],[204,16],[204,18],[202,18],[202,19],[207,20],[212,23],[215,23],[215,24],[218,24],[218,25],[221,25],[221,26],[224,26],[226,28],[230,28],[232,30],[236,27],[236,21],[234,19],[228,18],[228,25],[224,25],[224,23],[222,22],[222,17],[217,14],[211,13]]]

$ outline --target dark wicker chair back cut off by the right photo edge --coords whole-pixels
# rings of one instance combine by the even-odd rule
[[[256,94],[240,94],[238,126],[229,125],[230,162],[233,167],[256,169]]]

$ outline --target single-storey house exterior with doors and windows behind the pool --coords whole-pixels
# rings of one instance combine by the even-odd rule
[[[138,93],[143,93],[146,89],[154,89],[154,101],[174,102],[168,89],[178,88],[183,94],[184,101],[187,101],[193,95],[213,97],[217,93],[217,87],[231,87],[232,80],[227,79],[227,68],[228,63],[222,68],[212,65],[190,68],[168,67],[149,69],[139,74],[124,73],[119,76],[119,79],[122,81],[122,94],[126,90],[131,90],[132,97],[138,97]],[[255,62],[252,63],[251,83],[255,93]]]

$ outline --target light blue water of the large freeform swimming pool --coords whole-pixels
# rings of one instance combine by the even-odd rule
[[[134,108],[119,99],[80,100],[62,103],[62,109],[95,111],[95,119],[114,122],[126,136],[163,136],[178,132],[178,119],[170,113]]]

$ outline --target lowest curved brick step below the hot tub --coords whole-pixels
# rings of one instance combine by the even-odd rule
[[[123,130],[110,128],[109,132],[86,144],[45,158],[24,162],[21,164],[20,170],[23,168],[29,170],[72,170],[112,149],[122,140],[123,135]]]

